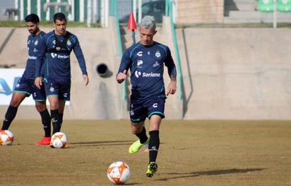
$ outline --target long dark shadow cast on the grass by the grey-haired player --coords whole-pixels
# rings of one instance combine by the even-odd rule
[[[167,175],[179,175],[172,178],[161,178],[160,181],[174,180],[179,178],[190,178],[201,175],[223,175],[223,174],[237,174],[237,173],[249,173],[254,171],[263,171],[266,168],[246,168],[246,169],[227,169],[227,170],[217,170],[217,171],[199,171],[193,173],[165,173]]]

